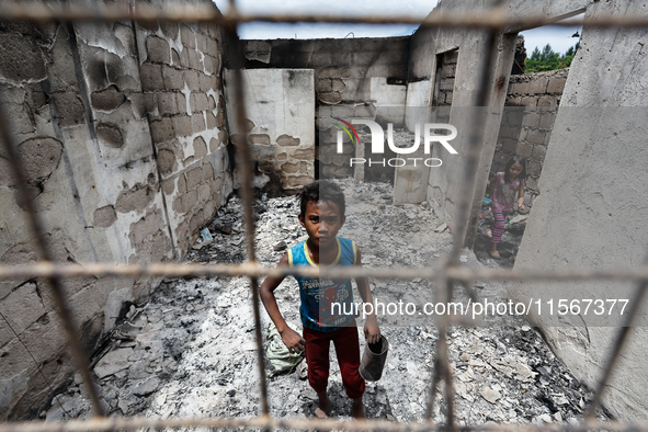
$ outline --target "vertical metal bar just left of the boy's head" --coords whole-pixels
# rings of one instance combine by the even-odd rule
[[[230,9],[228,14],[236,14],[236,4],[234,0],[230,0]],[[238,163],[242,171],[242,182],[240,184],[240,191],[243,198],[243,209],[246,218],[246,247],[248,250],[248,261],[253,263],[255,261],[254,255],[254,211],[253,200],[254,191],[253,184],[253,172],[252,172],[252,155],[250,151],[250,143],[248,135],[246,134],[246,106],[243,95],[243,78],[241,69],[245,66],[243,47],[237,34],[237,25],[228,23],[226,31],[229,37],[229,61],[232,67],[232,84],[234,84],[234,101],[236,109],[236,123],[242,139],[236,143]],[[270,408],[268,403],[268,385],[265,377],[265,359],[263,355],[263,338],[261,336],[261,310],[260,310],[260,297],[259,297],[259,278],[257,276],[250,277],[250,285],[252,287],[252,308],[254,309],[254,333],[257,337],[257,361],[259,363],[259,386],[261,390],[261,408],[263,416],[270,414]]]

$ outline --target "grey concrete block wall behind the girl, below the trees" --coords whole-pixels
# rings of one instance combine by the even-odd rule
[[[538,179],[556,121],[569,69],[511,76],[490,175],[503,171],[509,159],[527,161],[525,203],[539,194]]]

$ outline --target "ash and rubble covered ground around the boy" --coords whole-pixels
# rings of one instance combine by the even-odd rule
[[[386,183],[340,182],[348,200],[341,237],[356,241],[367,268],[425,269],[452,247],[447,230],[424,205],[393,206]],[[274,266],[285,247],[305,236],[295,197],[257,202],[258,260]],[[242,205],[232,197],[211,225],[213,241],[196,242],[192,262],[242,262]],[[437,229],[439,230],[439,229]],[[462,261],[484,265],[471,251]],[[486,261],[487,265],[499,265]],[[374,297],[421,305],[433,300],[428,281],[371,280]],[[275,292],[286,320],[300,327],[299,293],[289,277]],[[478,298],[505,299],[505,286],[480,283]],[[360,298],[357,292],[355,297]],[[465,302],[458,289],[457,299]],[[263,333],[269,317],[262,311]],[[380,317],[390,342],[383,378],[367,383],[364,402],[368,418],[416,421],[423,418],[433,372],[436,330],[433,317]],[[362,328],[362,322],[359,322]],[[255,417],[260,414],[259,374],[249,282],[245,277],[166,278],[146,305],[132,307],[106,346],[94,359],[94,373],[110,416],[151,418]],[[361,349],[364,348],[361,336]],[[331,346],[331,357],[334,351]],[[477,327],[453,327],[450,357],[456,389],[456,417],[467,424],[577,423],[591,394],[569,373],[525,320],[490,317]],[[266,365],[270,367],[270,365]],[[302,371],[303,372],[303,371]],[[303,375],[303,374],[302,374]],[[78,374],[57,395],[42,417],[48,420],[91,416]],[[316,394],[298,371],[269,379],[273,416],[311,417]],[[332,416],[348,419],[346,398],[337,362],[331,362],[329,397]],[[446,409],[437,390],[434,419]]]

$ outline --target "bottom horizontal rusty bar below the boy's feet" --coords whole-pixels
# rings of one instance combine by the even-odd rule
[[[149,419],[133,418],[94,418],[90,420],[71,420],[59,422],[16,422],[0,423],[0,432],[107,432],[115,430],[136,430],[143,428],[272,428],[272,429],[315,429],[321,431],[386,431],[386,432],[431,432],[445,430],[444,424],[433,422],[391,422],[385,420],[351,420],[337,419],[274,419],[261,417],[252,419],[235,418],[203,418],[203,419]],[[584,422],[582,424],[498,424],[463,427],[462,431],[591,431],[603,429],[606,431],[648,431],[648,422],[623,423],[611,421],[606,423]]]

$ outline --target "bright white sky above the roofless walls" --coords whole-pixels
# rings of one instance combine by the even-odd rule
[[[214,0],[214,2],[220,11],[227,12],[229,0]],[[423,19],[435,5],[436,0],[237,0],[237,7],[243,13],[339,13],[341,16],[399,14]],[[385,37],[410,35],[417,27],[417,25],[250,23],[241,25],[239,35],[243,39]],[[577,37],[571,37],[576,31],[576,27],[541,27],[522,32],[526,53],[531,55],[536,46],[542,49],[548,43],[555,52],[562,54],[578,42]]]

